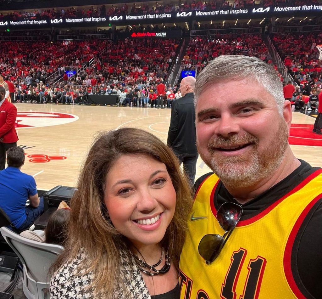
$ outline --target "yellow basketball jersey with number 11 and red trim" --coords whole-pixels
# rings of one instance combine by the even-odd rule
[[[257,216],[241,220],[217,259],[206,265],[198,253],[200,240],[224,234],[213,204],[218,182],[211,175],[196,193],[180,258],[180,298],[305,298],[291,272],[291,252],[305,216],[322,198],[322,169]]]

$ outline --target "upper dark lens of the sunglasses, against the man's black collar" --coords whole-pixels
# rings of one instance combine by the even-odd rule
[[[217,220],[224,231],[231,231],[242,216],[242,207],[233,203],[225,202],[217,211]]]

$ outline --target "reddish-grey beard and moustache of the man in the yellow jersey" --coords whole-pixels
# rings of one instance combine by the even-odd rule
[[[244,188],[270,176],[279,168],[288,147],[288,136],[287,125],[281,120],[279,130],[264,149],[259,149],[259,139],[256,136],[245,133],[229,138],[214,137],[208,143],[208,157],[200,150],[199,153],[224,185]],[[214,149],[240,144],[251,144],[252,151],[237,156],[223,156]]]

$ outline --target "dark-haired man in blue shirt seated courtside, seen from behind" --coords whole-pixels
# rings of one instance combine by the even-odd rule
[[[24,150],[12,147],[7,151],[8,167],[0,171],[0,207],[14,226],[23,230],[43,213],[43,198],[38,197],[35,179],[20,171]],[[26,206],[29,199],[30,205]]]

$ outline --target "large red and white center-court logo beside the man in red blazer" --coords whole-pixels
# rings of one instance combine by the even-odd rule
[[[78,116],[57,112],[18,112],[16,129],[39,128],[62,125],[77,121]]]

